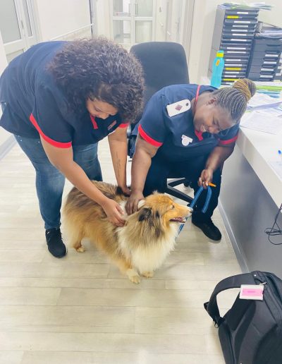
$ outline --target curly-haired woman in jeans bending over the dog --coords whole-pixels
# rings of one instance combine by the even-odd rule
[[[142,108],[142,69],[104,38],[44,42],[13,59],[0,79],[0,126],[13,133],[36,171],[49,252],[66,255],[60,231],[65,177],[123,225],[119,205],[91,182],[102,181],[97,143],[108,135],[116,181],[124,193],[128,123]]]

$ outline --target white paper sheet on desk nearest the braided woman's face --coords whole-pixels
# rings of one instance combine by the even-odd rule
[[[277,111],[278,115],[280,111]],[[275,111],[252,111],[247,112],[241,119],[240,126],[264,133],[282,135],[282,116],[276,116]],[[271,114],[271,116],[270,116]],[[280,114],[281,115],[281,114]]]

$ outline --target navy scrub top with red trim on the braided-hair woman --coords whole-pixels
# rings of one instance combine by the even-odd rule
[[[198,89],[198,92],[197,92]],[[158,154],[168,161],[181,161],[212,152],[217,145],[228,145],[238,138],[239,123],[218,134],[195,131],[192,108],[168,116],[166,106],[183,99],[197,99],[197,94],[216,90],[211,86],[171,85],[156,92],[145,107],[138,132]]]

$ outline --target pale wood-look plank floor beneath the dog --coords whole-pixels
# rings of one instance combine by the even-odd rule
[[[106,140],[104,181],[114,182]],[[70,189],[66,185],[66,192]],[[44,242],[34,171],[18,146],[0,161],[1,364],[223,364],[203,303],[240,272],[223,222],[212,243],[188,222],[153,279],[134,285],[86,243],[57,260]],[[222,313],[237,292],[221,293]]]

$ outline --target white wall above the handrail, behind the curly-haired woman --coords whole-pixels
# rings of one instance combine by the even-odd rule
[[[39,41],[50,40],[90,24],[88,0],[34,0]]]

